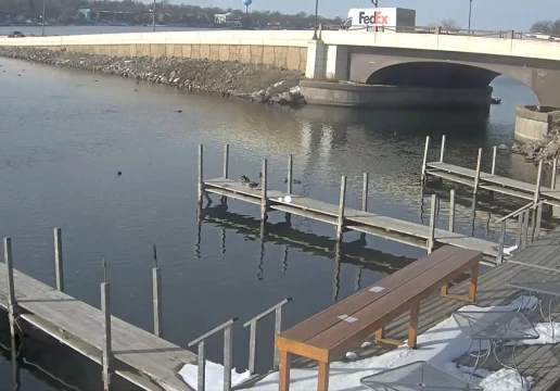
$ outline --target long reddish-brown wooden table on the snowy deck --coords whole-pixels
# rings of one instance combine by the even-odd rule
[[[482,252],[443,247],[376,285],[353,294],[323,312],[282,332],[276,338],[280,353],[279,391],[290,389],[291,354],[319,364],[317,390],[329,389],[329,363],[376,335],[386,339],[384,327],[397,316],[410,311],[408,344],[416,348],[420,302],[441,289],[444,297],[474,302]],[[447,293],[449,282],[471,272],[468,297]]]

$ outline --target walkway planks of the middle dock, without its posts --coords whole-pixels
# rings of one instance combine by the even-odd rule
[[[204,190],[257,205],[260,205],[263,197],[259,188],[250,188],[242,185],[241,181],[226,178],[204,180]],[[292,198],[290,202],[284,201],[287,195]],[[339,205],[335,204],[288,194],[278,190],[267,190],[267,200],[269,201],[269,207],[275,211],[282,211],[331,225],[338,223]],[[430,239],[429,226],[351,207],[344,209],[344,228],[420,248],[428,248],[428,240]],[[441,244],[480,250],[491,260],[496,260],[498,256],[498,244],[487,240],[449,232],[444,229],[436,229],[434,239],[436,243]]]

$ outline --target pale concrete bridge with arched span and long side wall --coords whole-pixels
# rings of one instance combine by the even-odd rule
[[[308,78],[403,88],[487,91],[498,75],[529,86],[542,104],[560,106],[560,42],[498,37],[323,30],[206,30],[0,38],[0,46],[66,49],[90,54],[183,56],[271,64]],[[462,92],[461,92],[462,93]]]

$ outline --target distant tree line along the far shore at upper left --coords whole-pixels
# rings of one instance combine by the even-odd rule
[[[136,0],[44,0],[47,18],[58,22],[72,22],[80,17],[79,9],[91,9],[93,12],[116,11],[131,12],[137,15],[137,21],[149,18],[153,3],[144,4]],[[240,1],[241,4],[241,1]],[[188,23],[206,20],[214,21],[214,14],[232,12],[240,17],[250,16],[253,24],[259,26],[278,25],[288,28],[309,28],[315,25],[315,15],[300,12],[296,14],[283,14],[278,11],[250,11],[249,15],[240,9],[202,8],[191,4],[171,4],[169,0],[156,1],[156,14],[160,22]],[[23,15],[29,20],[40,20],[42,15],[42,0],[1,0],[0,12],[11,15]],[[341,17],[328,18],[319,16],[323,24],[342,25]]]

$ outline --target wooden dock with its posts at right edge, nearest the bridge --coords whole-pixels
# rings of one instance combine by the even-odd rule
[[[438,162],[428,162],[429,146],[430,137],[428,137],[425,141],[424,160],[422,163],[422,181],[432,176],[471,187],[473,188],[474,194],[476,194],[479,190],[483,189],[522,200],[534,202],[542,201],[548,205],[560,206],[560,190],[555,189],[558,172],[558,159],[553,160],[551,187],[548,188],[542,186],[543,161],[540,161],[538,166],[536,182],[535,185],[531,185],[521,180],[496,175],[496,147],[494,147],[491,173],[484,173],[481,171],[482,149],[479,149],[476,167],[471,169],[444,162],[445,136],[442,138]]]

